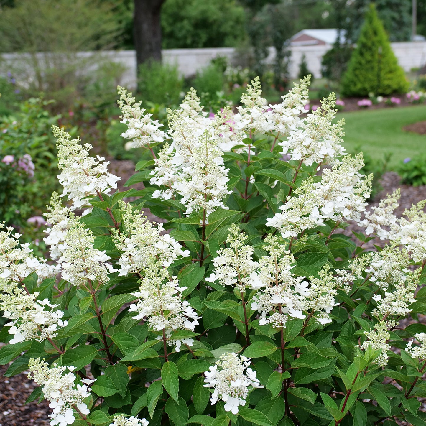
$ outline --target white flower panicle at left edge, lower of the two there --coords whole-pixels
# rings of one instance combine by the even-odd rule
[[[0,309],[3,317],[12,320],[5,324],[9,334],[13,334],[11,345],[29,340],[43,342],[58,335],[60,327],[66,327],[67,321],[62,321],[63,312],[54,310],[59,305],[50,303],[49,299],[37,300],[39,292],[28,293],[18,287],[16,282],[7,283],[0,279]],[[51,310],[47,310],[49,307]]]

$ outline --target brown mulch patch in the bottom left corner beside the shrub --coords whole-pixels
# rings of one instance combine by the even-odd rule
[[[25,373],[4,377],[7,368],[0,366],[0,426],[48,426],[49,401],[24,405],[36,384]]]

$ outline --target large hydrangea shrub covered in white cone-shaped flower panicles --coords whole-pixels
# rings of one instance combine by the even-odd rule
[[[423,426],[425,203],[366,211],[334,95],[300,118],[308,78],[276,105],[255,79],[210,117],[191,90],[167,132],[119,96],[144,150],[126,185],[145,189],[114,192],[104,158],[54,127],[49,259],[0,231],[0,363],[29,371],[50,424]]]

